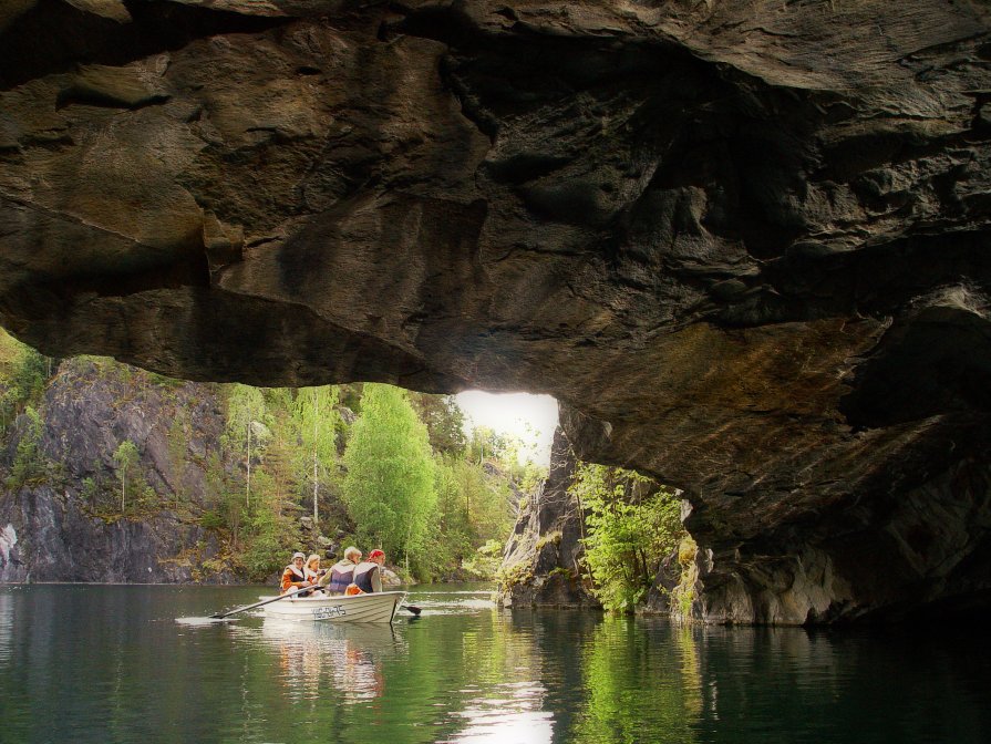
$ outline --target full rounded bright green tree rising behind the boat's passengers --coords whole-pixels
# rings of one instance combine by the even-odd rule
[[[409,561],[437,499],[426,427],[398,388],[367,384],[361,409],[344,452],[344,500],[367,545]]]

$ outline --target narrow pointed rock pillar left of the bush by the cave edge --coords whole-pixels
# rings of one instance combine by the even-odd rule
[[[565,433],[554,433],[547,478],[520,509],[506,542],[499,599],[506,607],[599,607],[581,576],[584,520],[568,494],[575,453]]]

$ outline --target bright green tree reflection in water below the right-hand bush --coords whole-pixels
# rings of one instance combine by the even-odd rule
[[[582,653],[587,699],[572,741],[695,740],[702,701],[691,632],[653,630],[661,637],[624,617],[607,617],[596,629]]]

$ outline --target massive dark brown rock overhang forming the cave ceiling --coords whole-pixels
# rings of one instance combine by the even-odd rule
[[[985,3],[4,8],[20,338],[551,393],[685,489],[709,620],[987,606]]]

